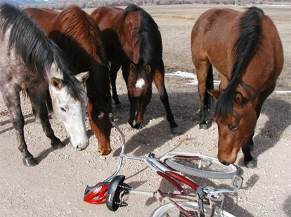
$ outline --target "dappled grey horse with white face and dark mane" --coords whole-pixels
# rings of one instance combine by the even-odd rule
[[[41,31],[37,23],[10,4],[0,4],[0,37],[0,88],[20,143],[18,149],[23,154],[23,164],[34,166],[37,161],[25,143],[20,91],[27,91],[53,148],[64,145],[55,136],[48,121],[47,88],[56,118],[65,125],[72,145],[81,150],[86,148],[89,144],[85,126],[88,98],[82,83],[89,72],[77,74],[65,53]]]

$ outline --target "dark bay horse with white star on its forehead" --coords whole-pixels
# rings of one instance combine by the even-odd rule
[[[174,121],[164,86],[162,37],[155,20],[143,8],[134,4],[124,10],[100,7],[93,11],[91,16],[100,27],[105,40],[106,55],[111,63],[112,98],[116,105],[120,102],[115,80],[120,66],[122,67],[130,103],[131,127],[142,127],[145,109],[152,98],[154,81],[172,133],[180,134],[181,129]]]

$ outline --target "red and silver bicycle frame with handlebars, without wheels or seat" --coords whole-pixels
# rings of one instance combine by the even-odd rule
[[[172,202],[172,204],[174,204],[174,206],[176,206],[180,211],[182,211],[183,213],[186,213],[186,215],[190,216],[190,217],[192,217],[193,215],[191,213],[189,213],[188,211],[186,211],[185,209],[183,209],[183,207],[179,206],[179,204],[176,204],[176,202],[174,202],[174,200],[172,200],[172,198],[188,199],[191,201],[197,200],[198,204],[199,204],[199,208],[200,208],[199,215],[204,216],[203,199],[207,199],[207,202],[212,207],[212,211],[214,211],[215,203],[212,202],[212,199],[215,198],[215,200],[217,200],[217,201],[219,201],[219,200],[223,201],[223,199],[224,199],[224,195],[222,195],[223,192],[237,192],[238,188],[240,188],[241,183],[240,183],[240,185],[238,184],[239,186],[234,185],[233,189],[219,189],[219,190],[214,190],[214,188],[212,188],[212,187],[198,186],[192,180],[190,180],[184,176],[181,176],[179,173],[172,171],[172,169],[169,169],[167,166],[164,166],[161,163],[164,161],[164,159],[167,159],[167,158],[172,158],[172,157],[177,156],[177,155],[179,155],[179,157],[191,157],[191,154],[179,153],[179,152],[176,152],[176,153],[170,152],[170,153],[164,154],[164,156],[160,157],[160,159],[157,159],[155,157],[155,154],[153,154],[153,153],[150,153],[148,155],[148,157],[133,157],[133,156],[129,156],[129,155],[125,154],[124,150],[125,150],[126,143],[125,143],[124,134],[121,131],[121,129],[119,129],[119,126],[117,126],[115,124],[115,122],[113,120],[113,115],[111,113],[109,114],[109,118],[110,118],[110,121],[112,123],[112,126],[114,126],[115,129],[117,129],[117,131],[119,131],[120,135],[122,136],[122,150],[119,154],[119,157],[120,157],[119,164],[117,166],[115,173],[113,173],[110,177],[105,179],[103,181],[103,183],[108,183],[110,180],[114,179],[117,176],[117,173],[119,173],[119,170],[121,169],[122,160],[124,158],[143,161],[155,173],[157,173],[159,176],[162,176],[162,178],[164,178],[165,180],[168,180],[169,183],[174,185],[176,190],[179,191],[179,194],[178,193],[168,193],[168,192],[165,193],[165,192],[162,192],[161,190],[157,190],[155,192],[154,191],[151,191],[151,192],[141,191],[141,190],[134,190],[133,188],[127,189],[126,190],[127,193],[150,194],[154,197],[156,197],[158,195],[163,200],[168,200],[169,202]],[[183,187],[176,180],[179,180],[181,183],[188,185],[191,189],[195,190],[195,192],[197,192],[197,194],[195,194],[195,195],[186,194]],[[236,181],[238,181],[238,180],[236,180]],[[233,179],[233,183],[234,182],[235,182],[235,179]],[[125,193],[125,195],[127,193]],[[222,204],[223,204],[223,202],[221,202],[221,206],[222,206]],[[122,206],[127,206],[127,204],[122,202]]]

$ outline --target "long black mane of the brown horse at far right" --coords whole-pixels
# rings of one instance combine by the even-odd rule
[[[247,65],[252,60],[259,46],[259,37],[261,34],[261,14],[264,13],[257,7],[248,8],[245,15],[240,18],[239,31],[240,35],[233,46],[234,64],[231,72],[231,79],[228,86],[221,94],[216,103],[216,115],[226,117],[226,114],[233,115],[233,96],[235,95],[238,85],[242,85],[247,94],[246,85],[242,81],[243,74]],[[252,98],[250,96],[250,98]]]

